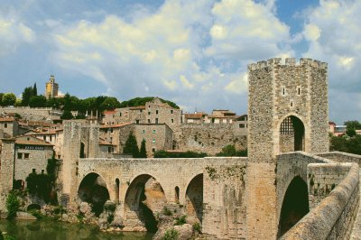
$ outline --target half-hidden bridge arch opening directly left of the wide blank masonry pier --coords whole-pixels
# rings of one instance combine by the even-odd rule
[[[186,212],[189,217],[203,218],[203,173],[190,180],[186,190]]]

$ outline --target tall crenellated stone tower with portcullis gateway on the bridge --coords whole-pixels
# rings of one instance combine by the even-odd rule
[[[248,66],[249,239],[275,239],[275,156],[329,151],[327,63],[294,59]]]

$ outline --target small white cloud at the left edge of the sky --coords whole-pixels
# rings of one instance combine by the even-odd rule
[[[16,20],[14,16],[0,15],[0,56],[15,51],[21,43],[32,43],[35,40],[35,32],[27,25]]]

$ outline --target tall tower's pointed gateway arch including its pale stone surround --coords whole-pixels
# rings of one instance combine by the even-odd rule
[[[308,135],[309,127],[305,124],[303,117],[296,113],[284,115],[277,125],[276,135],[274,137],[278,146],[275,150],[281,152],[307,152],[309,149]]]

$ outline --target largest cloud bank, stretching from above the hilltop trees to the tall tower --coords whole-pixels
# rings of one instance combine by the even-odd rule
[[[189,108],[245,111],[228,94],[245,97],[246,64],[292,55],[289,27],[274,12],[271,0],[168,0],[134,18],[60,23],[51,59],[97,79],[107,95],[126,99],[147,89]]]

